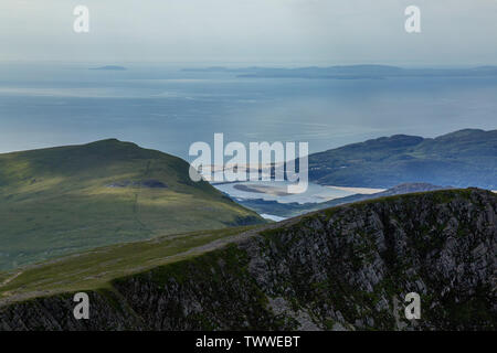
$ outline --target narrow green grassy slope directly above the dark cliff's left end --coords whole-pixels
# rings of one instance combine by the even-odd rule
[[[192,257],[197,253],[187,253],[188,250],[237,235],[252,227],[193,232],[112,245],[46,264],[0,272],[0,284],[20,272],[8,284],[0,285],[0,299],[43,291],[71,292],[109,288],[110,280],[115,278]]]

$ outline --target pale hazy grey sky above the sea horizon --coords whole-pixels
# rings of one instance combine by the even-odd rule
[[[89,33],[73,31],[77,4]],[[482,65],[496,39],[497,0],[0,1],[0,61]]]

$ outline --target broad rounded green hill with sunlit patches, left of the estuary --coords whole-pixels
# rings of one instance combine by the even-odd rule
[[[115,139],[0,154],[0,269],[115,243],[262,223],[176,157]]]

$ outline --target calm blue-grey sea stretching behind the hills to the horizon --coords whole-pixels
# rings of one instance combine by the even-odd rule
[[[1,64],[0,152],[105,138],[187,160],[190,143],[307,141],[317,152],[394,133],[495,129],[496,78],[260,79],[181,65]]]

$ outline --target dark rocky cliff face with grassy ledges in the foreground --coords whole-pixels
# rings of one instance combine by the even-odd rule
[[[496,213],[480,190],[329,208],[114,280],[89,293],[89,320],[67,293],[3,306],[0,329],[495,330]]]

